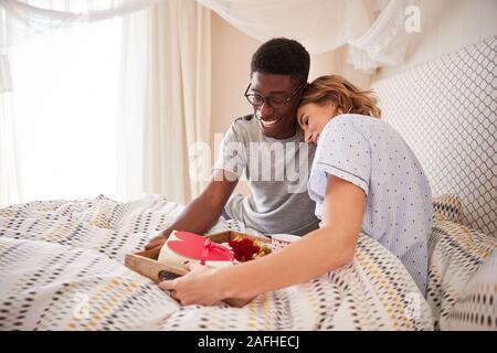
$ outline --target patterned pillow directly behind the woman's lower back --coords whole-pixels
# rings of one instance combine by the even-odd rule
[[[440,322],[451,315],[458,300],[470,296],[465,290],[482,265],[490,258],[495,247],[496,239],[493,236],[455,222],[434,220],[429,242],[426,300],[432,307],[435,329],[440,329]],[[494,272],[497,272],[495,267]],[[497,286],[496,276],[488,277],[488,280]]]

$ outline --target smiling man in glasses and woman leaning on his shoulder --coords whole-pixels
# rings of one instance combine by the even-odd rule
[[[308,281],[351,263],[359,233],[399,257],[424,295],[432,202],[421,164],[380,119],[371,92],[337,75],[308,84],[309,66],[296,41],[258,47],[244,94],[253,114],[233,121],[205,190],[147,248],[173,229],[203,234],[221,215],[302,239],[237,266],[189,265],[189,274],[159,284],[182,304],[250,299]],[[243,173],[248,196],[233,194]]]

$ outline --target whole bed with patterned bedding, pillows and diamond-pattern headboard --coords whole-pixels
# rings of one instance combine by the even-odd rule
[[[495,154],[489,160],[484,153],[451,160],[440,153],[451,151],[448,142],[435,150],[423,141],[433,141],[436,136],[430,133],[444,135],[447,129],[457,141],[461,131],[440,119],[453,113],[444,108],[454,106],[451,95],[461,96],[467,87],[444,89],[445,98],[415,106],[430,101],[423,97],[431,95],[425,87],[452,87],[447,86],[452,75],[457,85],[470,85],[472,78],[461,79],[459,73],[478,73],[495,87],[496,46],[490,39],[373,85],[384,103],[385,119],[411,145],[427,171],[433,194],[440,196],[433,200],[426,297],[395,256],[360,235],[351,265],[306,284],[261,295],[244,308],[181,307],[151,280],[126,268],[124,257],[171,224],[182,205],[154,194],[127,203],[99,195],[0,210],[0,330],[497,330]],[[426,82],[433,78],[431,71],[441,67],[447,73]],[[482,74],[488,69],[489,75]],[[406,99],[398,94],[405,85],[422,94]],[[467,142],[463,152],[473,151],[482,126],[495,131],[496,93],[487,86],[479,84],[477,93],[482,114],[475,113],[473,96],[464,96],[472,104],[457,98],[463,101],[457,105],[462,130],[477,131],[475,138],[462,140]],[[415,111],[423,113],[414,117],[417,120]],[[420,127],[412,124],[426,124],[430,133],[420,137],[415,133]],[[495,148],[495,136],[478,142],[485,151]],[[477,169],[470,165],[469,173],[461,173],[464,163],[478,158],[485,160]],[[223,218],[209,233],[224,229],[256,234]]]

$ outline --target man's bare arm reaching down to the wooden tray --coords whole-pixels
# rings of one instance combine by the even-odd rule
[[[230,181],[223,170],[215,170],[204,191],[184,207],[175,223],[151,239],[145,248],[148,250],[161,246],[172,231],[187,231],[197,234],[209,231],[218,222],[237,183],[237,180]]]

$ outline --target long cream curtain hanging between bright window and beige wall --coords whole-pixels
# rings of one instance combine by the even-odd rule
[[[186,203],[205,184],[191,149],[210,136],[210,11],[161,1],[124,18],[123,33],[120,193]]]

